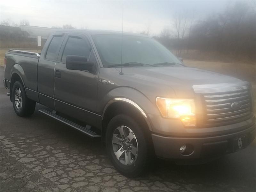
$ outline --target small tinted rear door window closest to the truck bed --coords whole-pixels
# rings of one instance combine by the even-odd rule
[[[56,60],[57,56],[58,56],[58,52],[59,52],[59,48],[60,48],[60,44],[62,43],[62,37],[53,37],[47,53],[46,53],[46,59],[49,60]]]

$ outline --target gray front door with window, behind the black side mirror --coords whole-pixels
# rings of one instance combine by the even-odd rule
[[[69,33],[60,49],[54,72],[54,100],[56,111],[95,125],[99,65],[95,73],[66,68],[67,55],[79,55],[94,61],[94,51],[84,35]]]

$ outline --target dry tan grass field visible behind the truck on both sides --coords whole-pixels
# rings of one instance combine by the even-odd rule
[[[23,49],[24,51],[41,52],[40,49]],[[3,66],[4,53],[8,49],[0,49],[0,65]],[[216,61],[197,61],[184,60],[188,67],[202,68],[214,72],[218,72],[228,76],[234,76],[252,84],[252,91],[255,98],[255,63],[241,63],[241,62],[216,62]],[[254,108],[255,109],[255,108]]]

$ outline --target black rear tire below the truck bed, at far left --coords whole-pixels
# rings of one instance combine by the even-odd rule
[[[22,105],[18,105],[18,107],[16,106],[16,103],[15,103],[15,94],[17,95],[16,93],[17,88],[18,90],[20,90],[20,96],[22,97]],[[25,88],[20,81],[14,82],[14,84],[12,85],[11,94],[12,94],[13,109],[18,116],[26,117],[34,113],[36,108],[36,102],[28,99]]]

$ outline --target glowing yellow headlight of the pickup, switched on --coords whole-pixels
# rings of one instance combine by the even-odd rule
[[[162,116],[180,118],[186,126],[195,126],[195,102],[193,99],[156,98],[156,105]]]

